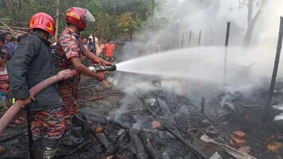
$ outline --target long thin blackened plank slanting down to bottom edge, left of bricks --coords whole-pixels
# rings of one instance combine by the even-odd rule
[[[181,141],[186,147],[196,155],[196,157],[201,159],[208,159],[208,157],[201,152],[200,150],[196,149],[192,144],[188,143],[187,140],[183,139],[182,136],[179,134],[176,134],[174,131],[172,131],[170,128],[168,128],[166,125],[163,125],[164,129],[171,133],[173,136],[175,136],[179,141]]]

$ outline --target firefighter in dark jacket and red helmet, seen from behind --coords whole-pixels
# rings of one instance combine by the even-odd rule
[[[21,107],[28,105],[28,157],[54,158],[65,131],[64,104],[58,87],[53,84],[34,97],[29,93],[30,88],[57,74],[49,42],[54,35],[54,20],[46,13],[37,13],[30,18],[29,29],[31,34],[20,41],[7,65],[12,96]]]

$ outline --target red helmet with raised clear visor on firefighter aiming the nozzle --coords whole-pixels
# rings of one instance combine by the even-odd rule
[[[84,30],[86,25],[90,22],[95,22],[96,19],[87,11],[87,9],[72,7],[67,10],[66,13],[66,23],[74,24]]]

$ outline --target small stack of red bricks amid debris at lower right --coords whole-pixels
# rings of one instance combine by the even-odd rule
[[[231,140],[229,145],[235,149],[238,149],[239,151],[249,153],[250,148],[247,147],[246,143],[246,133],[243,131],[237,130],[234,131],[231,135]]]

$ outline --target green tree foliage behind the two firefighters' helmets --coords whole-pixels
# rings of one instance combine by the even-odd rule
[[[56,1],[54,0],[1,0],[0,18],[10,18],[5,21],[11,26],[27,27],[29,18],[38,12],[45,12],[56,19]],[[152,14],[152,0],[64,0],[60,2],[59,32],[65,24],[65,12],[70,7],[86,8],[97,20],[82,33],[88,36],[97,32],[102,38],[119,38],[127,34],[128,24],[136,31],[141,23],[146,23]],[[161,0],[159,0],[161,1]],[[130,21],[123,21],[128,18]],[[125,19],[126,20],[126,19]]]

